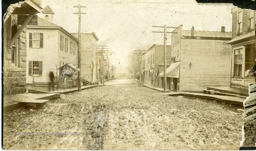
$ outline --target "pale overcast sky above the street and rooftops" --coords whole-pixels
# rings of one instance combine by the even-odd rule
[[[82,11],[82,33],[95,32],[98,45],[108,45],[114,54],[112,63],[127,63],[133,50],[147,50],[153,44],[163,45],[163,34],[151,33],[151,26],[179,26],[189,30],[231,31],[233,4],[197,4],[195,0],[41,0],[44,8],[53,9],[53,23],[70,33],[78,32],[78,9]],[[169,31],[173,29],[168,29]],[[168,35],[167,44],[171,45]]]

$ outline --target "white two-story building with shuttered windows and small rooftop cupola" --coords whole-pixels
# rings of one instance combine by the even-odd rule
[[[53,11],[43,9],[37,25],[28,25],[26,32],[26,83],[50,82],[49,72],[60,76],[58,69],[70,63],[78,64],[78,39],[64,28],[51,23]]]

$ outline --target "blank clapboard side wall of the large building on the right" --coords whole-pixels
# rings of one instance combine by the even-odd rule
[[[227,42],[182,39],[181,91],[203,91],[207,86],[230,86],[231,46],[226,45]]]

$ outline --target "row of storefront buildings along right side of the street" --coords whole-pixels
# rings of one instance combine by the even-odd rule
[[[246,72],[255,64],[255,11],[232,9],[233,30],[183,30],[178,26],[166,50],[167,89],[202,91],[208,86],[246,88],[255,82]],[[242,23],[242,24],[241,24]],[[141,55],[143,83],[163,87],[164,45]]]

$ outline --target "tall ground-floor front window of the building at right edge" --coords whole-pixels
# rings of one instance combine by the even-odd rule
[[[234,55],[235,60],[233,77],[242,77],[242,48],[236,49]]]

